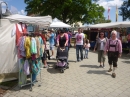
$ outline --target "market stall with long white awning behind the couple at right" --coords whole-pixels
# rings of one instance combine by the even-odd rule
[[[101,24],[95,24],[95,25],[88,25],[86,26],[86,28],[89,28],[89,32],[93,32],[92,37],[90,37],[93,41],[92,41],[92,47],[94,47],[94,43],[95,43],[95,40],[96,39],[96,36],[97,36],[97,32],[99,31],[103,31],[105,32],[105,35],[110,38],[110,33],[113,29],[117,29],[117,28],[127,28],[127,27],[130,27],[130,22],[127,21],[127,22],[112,22],[112,23],[101,23]],[[85,27],[84,27],[85,28]],[[95,31],[94,31],[95,30]],[[123,34],[125,32],[122,32],[120,34]],[[126,35],[127,36],[127,35]],[[126,38],[126,36],[123,36]],[[122,37],[122,35],[120,36]],[[126,40],[126,39],[125,39]],[[128,46],[127,46],[127,43],[122,43],[123,44],[123,49],[127,49]]]

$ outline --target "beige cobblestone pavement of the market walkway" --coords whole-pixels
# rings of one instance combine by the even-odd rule
[[[130,58],[129,58],[130,59]],[[122,57],[118,61],[117,77],[108,73],[109,65],[99,68],[97,54],[89,52],[89,59],[76,61],[75,50],[70,49],[70,68],[60,73],[53,65],[56,60],[48,62],[49,69],[42,69],[42,85],[14,88],[4,97],[130,97],[130,60]]]

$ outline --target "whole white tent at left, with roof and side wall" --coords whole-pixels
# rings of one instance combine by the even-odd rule
[[[15,44],[15,36],[12,31],[15,24],[23,22],[27,24],[35,24],[49,26],[52,22],[51,16],[45,17],[29,17],[22,15],[11,15],[1,20],[0,26],[0,82],[7,77],[16,77],[18,75],[18,57],[17,47]]]

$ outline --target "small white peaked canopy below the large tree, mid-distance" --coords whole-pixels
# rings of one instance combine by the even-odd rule
[[[52,24],[50,25],[51,28],[70,28],[71,26],[68,24],[65,24],[58,20],[57,18],[53,19]]]

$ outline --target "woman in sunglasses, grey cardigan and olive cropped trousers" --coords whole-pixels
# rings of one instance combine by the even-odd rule
[[[99,33],[99,38],[97,38],[94,51],[97,48],[98,51],[98,62],[100,63],[100,67],[105,68],[105,55],[104,55],[104,47],[107,42],[107,39],[105,38],[105,33],[100,32]],[[103,64],[102,64],[103,63]]]

